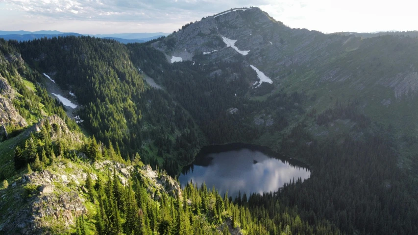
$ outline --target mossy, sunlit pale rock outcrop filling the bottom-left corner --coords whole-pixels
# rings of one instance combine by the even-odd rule
[[[29,189],[25,189],[20,195],[14,195],[12,200],[18,204],[14,206],[21,209],[10,211],[5,222],[0,225],[0,232],[49,234],[49,227],[53,227],[57,221],[64,230],[69,229],[75,222],[75,216],[86,213],[87,209],[83,204],[85,199],[79,194],[80,188],[67,187],[68,183],[61,181],[57,172],[49,170],[25,174],[14,183],[13,188],[31,187],[33,191],[27,195],[25,190]]]

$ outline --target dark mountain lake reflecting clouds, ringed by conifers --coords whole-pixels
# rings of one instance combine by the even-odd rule
[[[214,185],[221,195],[228,190],[228,195],[235,197],[238,191],[247,196],[277,191],[293,179],[305,180],[310,175],[303,163],[268,148],[234,143],[203,147],[195,162],[183,169],[179,181],[182,188],[191,180],[199,187],[205,182],[208,189]]]

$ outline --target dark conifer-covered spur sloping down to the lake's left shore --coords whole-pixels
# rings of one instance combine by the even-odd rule
[[[58,37],[20,47],[33,68],[73,91],[83,105],[79,111],[83,127],[106,145],[109,141],[116,145],[124,160],[139,152],[146,163],[176,174],[204,142],[193,119],[170,95],[144,85],[124,45]]]

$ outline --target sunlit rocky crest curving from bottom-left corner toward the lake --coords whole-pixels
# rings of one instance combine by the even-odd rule
[[[141,175],[147,179],[147,191],[154,200],[158,200],[163,191],[173,196],[180,193],[180,186],[175,180],[158,174],[149,165],[134,167],[108,160],[90,165],[61,159],[48,169],[24,174],[0,195],[0,208],[8,208],[0,216],[0,233],[49,234],[51,228],[55,232],[67,231],[75,224],[76,216],[87,214],[89,208],[94,207],[87,199],[84,187],[86,172],[92,172],[91,177],[95,181],[104,170],[112,174],[115,171],[124,186],[132,175]]]

